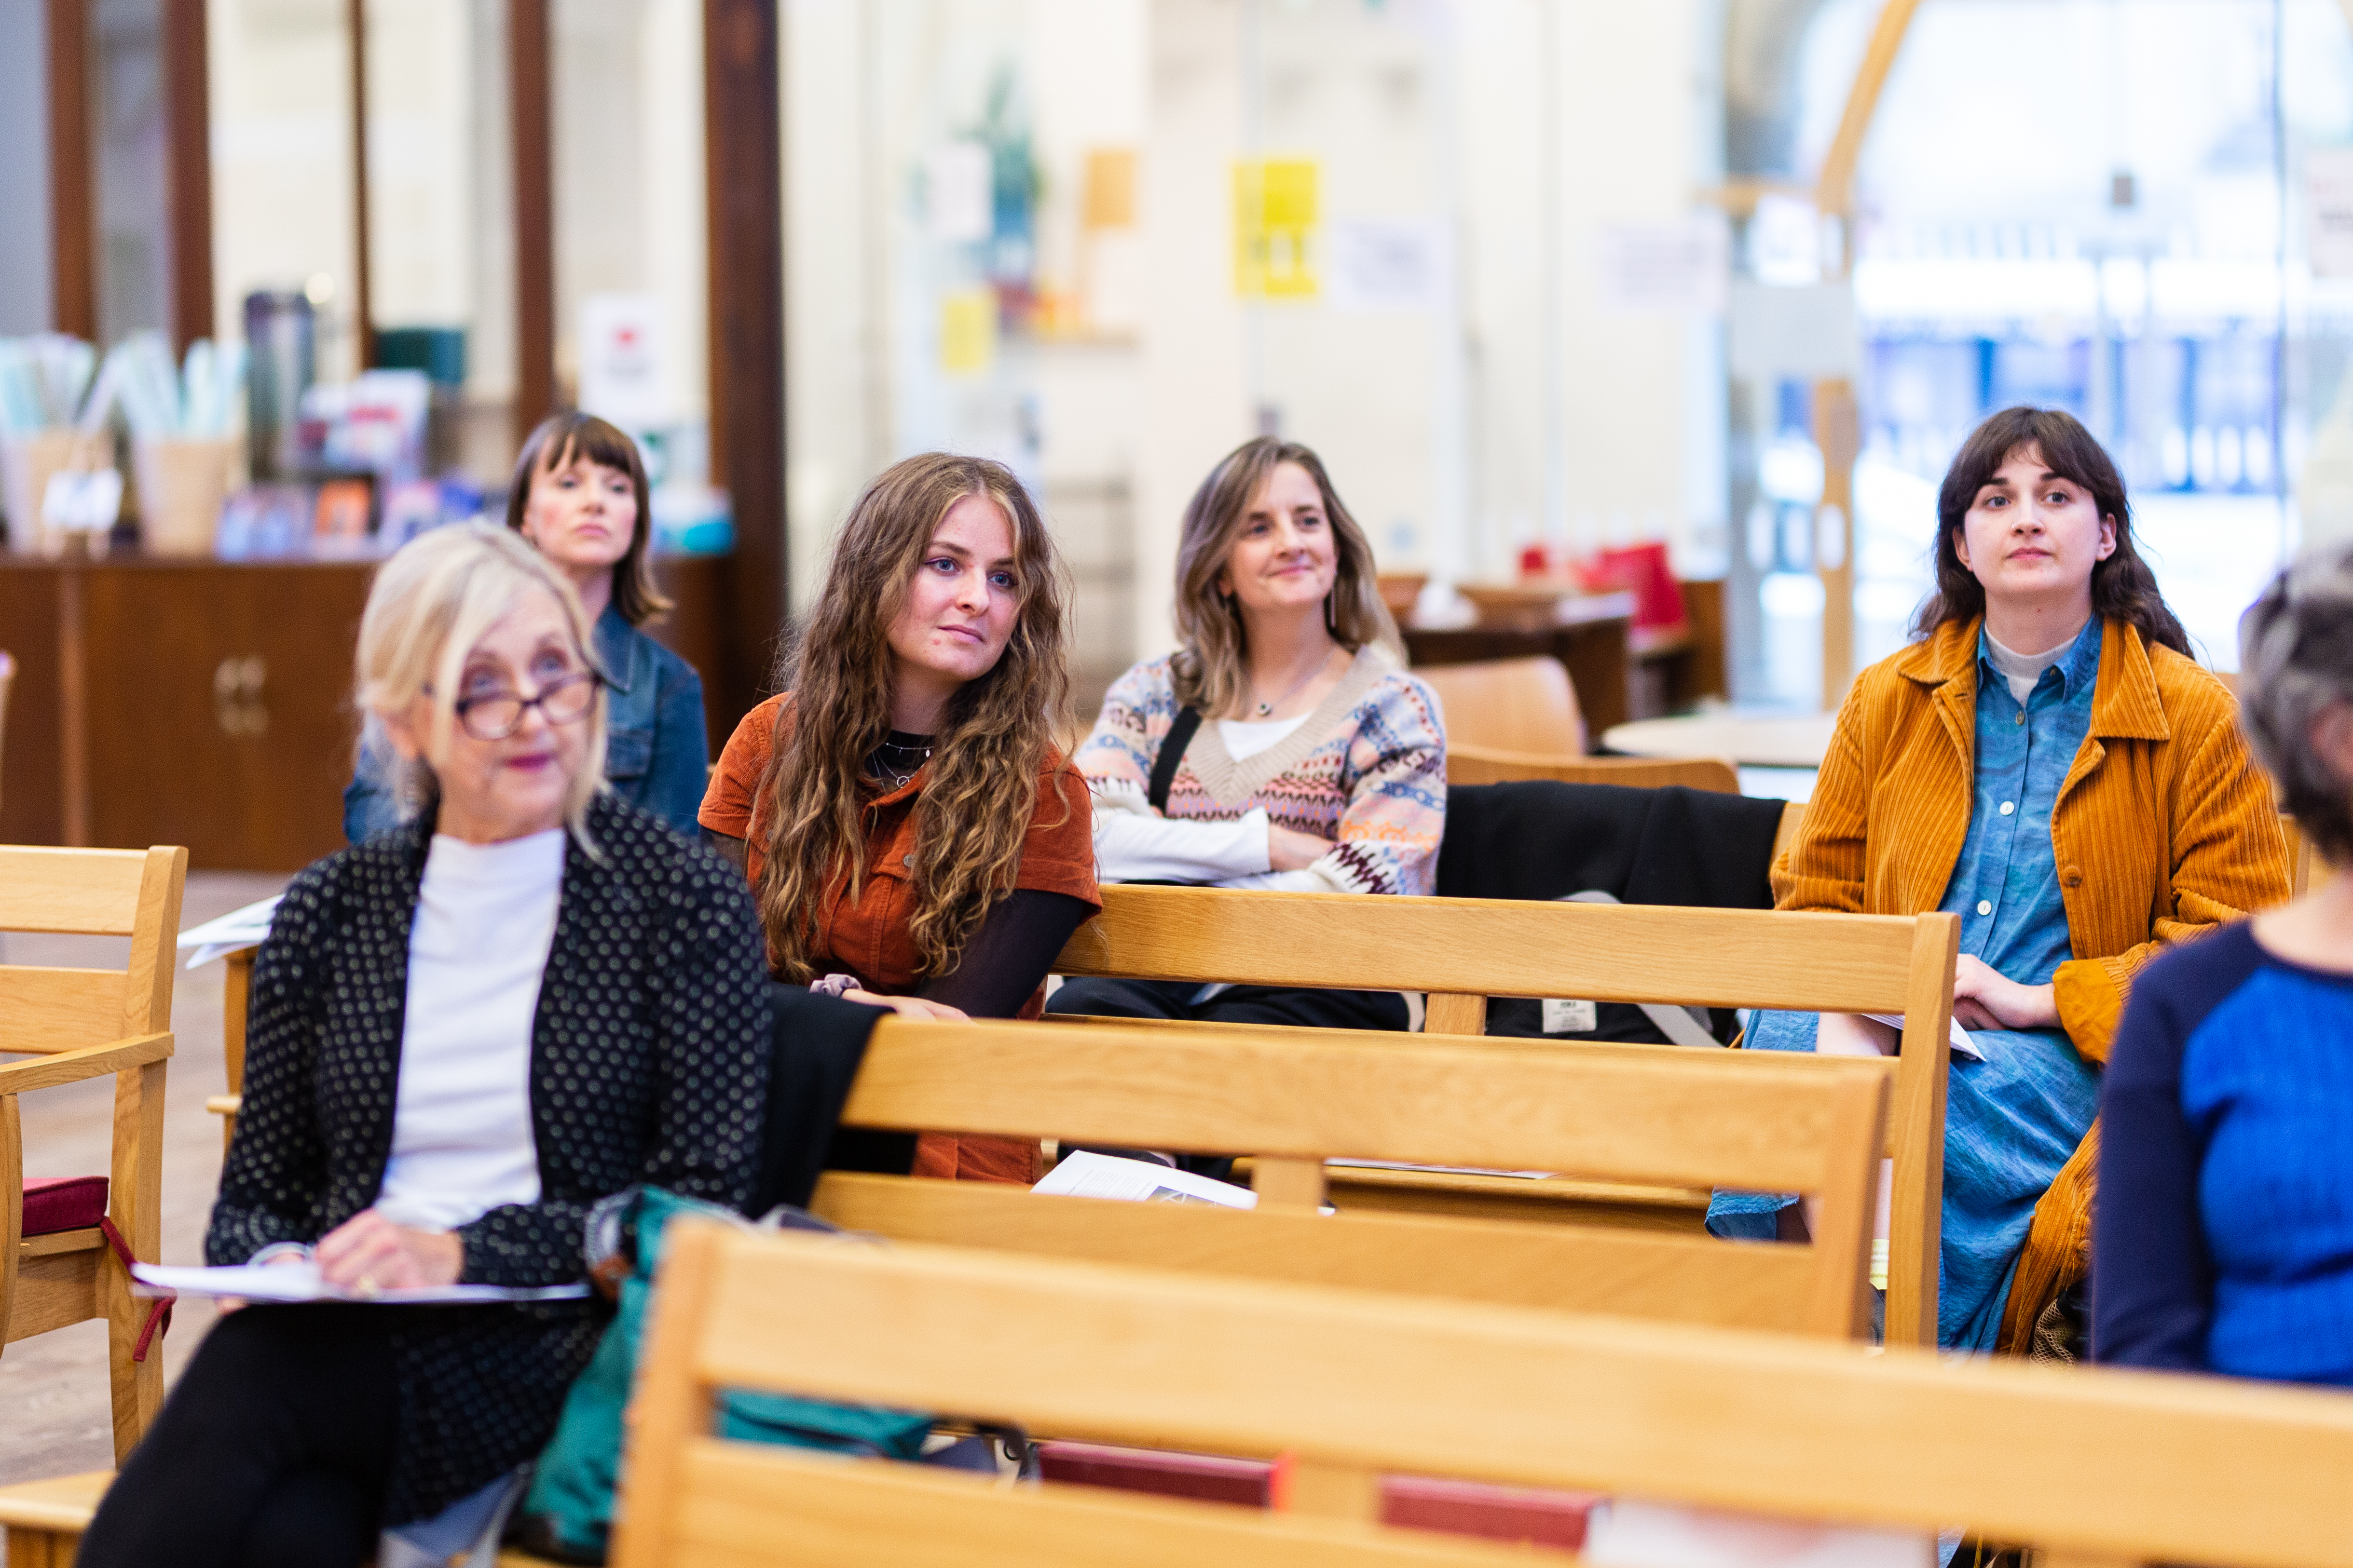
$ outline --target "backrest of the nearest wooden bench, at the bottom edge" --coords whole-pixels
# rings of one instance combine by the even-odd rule
[[[711,1436],[713,1394],[729,1387],[1292,1455],[1294,1516],[751,1450]],[[1085,1561],[1071,1542],[1115,1540],[1087,1530],[1125,1528],[1134,1542],[1155,1519],[1280,1530],[1306,1523],[1297,1512],[1348,1519],[1353,1540],[1377,1542],[1381,1472],[1915,1533],[1962,1526],[2054,1561],[2353,1563],[2353,1399],[2334,1392],[1944,1363],[1901,1347],[1866,1356],[1720,1328],[708,1225],[666,1246],[612,1561],[718,1561],[685,1542],[720,1533],[739,1563]],[[807,1544],[798,1514],[809,1474],[866,1488],[824,1509],[831,1556]],[[880,1507],[894,1497],[904,1512]],[[849,1540],[920,1549],[861,1559]],[[1094,1554],[1113,1556],[1132,1554]],[[1233,1544],[1191,1561],[1362,1559]]]

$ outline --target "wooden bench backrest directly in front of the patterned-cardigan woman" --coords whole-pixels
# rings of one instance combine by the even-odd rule
[[[1958,950],[1953,914],[1106,886],[1104,912],[1078,929],[1054,969],[1431,992],[1428,1034],[1482,1037],[1487,997],[1904,1013],[1889,1112],[1887,1340],[1934,1345]]]

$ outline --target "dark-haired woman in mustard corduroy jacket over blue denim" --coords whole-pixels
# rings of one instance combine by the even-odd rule
[[[2073,1354],[2099,1067],[2160,945],[2287,898],[2231,693],[2132,548],[2125,482],[2057,409],[1977,428],[1937,496],[1937,592],[1857,677],[1781,910],[1960,914],[1937,1340]],[[1767,1051],[1892,1051],[1852,1016],[1758,1013]],[[1786,1199],[1718,1194],[1718,1234]]]

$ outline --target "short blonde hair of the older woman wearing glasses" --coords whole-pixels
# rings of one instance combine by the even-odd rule
[[[355,696],[367,715],[369,738],[381,738],[384,715],[402,712],[431,696],[433,724],[426,755],[400,771],[400,816],[412,818],[440,799],[433,764],[447,759],[456,733],[456,693],[466,656],[529,590],[555,599],[572,628],[572,651],[595,670],[588,651],[588,616],[572,583],[520,534],[487,524],[435,529],[402,545],[376,571],[360,614]],[[572,837],[588,844],[588,802],[605,788],[605,689],[588,705],[588,745],[581,769],[565,792]],[[362,741],[365,745],[367,741]],[[388,745],[381,750],[391,750]]]

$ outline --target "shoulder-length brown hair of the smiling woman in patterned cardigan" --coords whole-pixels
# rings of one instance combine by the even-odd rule
[[[1365,529],[1355,524],[1322,458],[1299,442],[1278,442],[1261,435],[1242,442],[1209,470],[1209,477],[1193,491],[1184,508],[1184,534],[1176,541],[1176,637],[1184,644],[1169,661],[1176,701],[1198,708],[1207,717],[1235,712],[1249,672],[1242,668],[1247,654],[1240,607],[1217,590],[1217,574],[1226,569],[1226,555],[1249,520],[1249,501],[1259,487],[1282,463],[1297,463],[1315,480],[1315,491],[1325,503],[1325,520],[1332,524],[1332,545],[1339,559],[1339,578],[1325,607],[1332,637],[1355,654],[1367,642],[1377,642],[1405,663],[1405,646],[1398,623],[1381,604],[1381,583],[1372,564],[1372,545]]]

